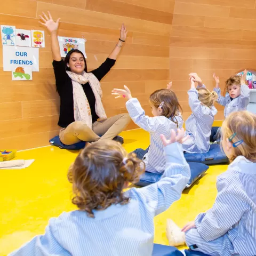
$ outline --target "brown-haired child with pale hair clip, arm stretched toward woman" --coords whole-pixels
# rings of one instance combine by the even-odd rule
[[[150,147],[148,153],[143,157],[146,171],[162,174],[165,167],[165,154],[159,135],[164,134],[167,137],[172,129],[177,131],[179,121],[175,117],[181,111],[177,96],[168,89],[153,92],[149,97],[149,103],[154,117],[148,117],[141,108],[140,102],[136,98],[132,98],[128,87],[124,86],[124,89],[114,89],[112,94],[118,95],[116,98],[126,98],[126,108],[133,122],[150,133]]]

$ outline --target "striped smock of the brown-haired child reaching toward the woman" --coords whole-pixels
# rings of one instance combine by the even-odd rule
[[[170,138],[171,130],[173,129],[177,131],[177,124],[165,116],[146,116],[145,111],[142,109],[140,102],[136,98],[128,100],[126,102],[126,108],[133,122],[150,133],[150,147],[148,153],[143,158],[143,162],[145,162],[146,165],[146,171],[162,174],[165,167],[165,154],[160,134],[164,134],[166,138]],[[175,117],[177,117],[178,126],[182,127],[182,117]]]

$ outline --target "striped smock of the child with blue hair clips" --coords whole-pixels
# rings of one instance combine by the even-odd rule
[[[213,207],[186,232],[188,246],[211,256],[256,255],[256,163],[238,156],[217,178]]]

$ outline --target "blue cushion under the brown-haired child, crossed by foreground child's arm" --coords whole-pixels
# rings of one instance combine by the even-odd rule
[[[202,174],[205,173],[209,166],[201,163],[188,163],[190,167],[191,177],[189,182],[187,183],[186,188],[189,188],[196,180],[202,177]],[[151,173],[151,172],[145,172],[140,176],[140,181],[136,183],[137,186],[145,187],[152,183],[157,182],[159,179],[161,179],[161,174],[157,173]]]

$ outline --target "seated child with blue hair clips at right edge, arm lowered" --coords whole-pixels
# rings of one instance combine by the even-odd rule
[[[189,222],[183,232],[168,221],[169,241],[171,245],[175,245],[174,240],[181,244],[186,238],[191,249],[212,256],[255,256],[256,115],[249,111],[231,113],[222,124],[221,134],[231,164],[217,178],[215,203]]]

